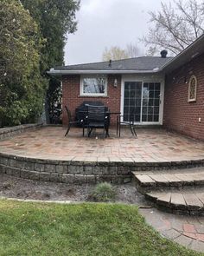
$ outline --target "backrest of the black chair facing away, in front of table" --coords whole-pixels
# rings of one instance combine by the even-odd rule
[[[107,119],[105,106],[86,105],[88,121],[104,122]]]

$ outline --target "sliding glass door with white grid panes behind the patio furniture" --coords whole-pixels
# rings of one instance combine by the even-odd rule
[[[124,82],[124,121],[159,122],[160,82]]]

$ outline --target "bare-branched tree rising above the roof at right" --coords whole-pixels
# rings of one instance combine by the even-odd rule
[[[204,33],[204,3],[175,0],[174,6],[161,4],[162,10],[150,12],[153,25],[142,41],[152,49],[169,49],[176,55]]]

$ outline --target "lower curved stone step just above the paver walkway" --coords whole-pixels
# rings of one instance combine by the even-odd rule
[[[204,216],[204,188],[150,192],[145,197],[170,213]]]

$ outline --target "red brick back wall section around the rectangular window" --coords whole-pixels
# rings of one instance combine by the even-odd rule
[[[114,88],[113,83],[118,79],[118,87]],[[67,113],[64,108],[68,105],[72,115],[75,115],[75,109],[80,106],[82,102],[103,102],[105,106],[110,108],[112,112],[120,111],[121,98],[121,75],[108,75],[107,81],[107,96],[106,97],[91,97],[80,96],[80,75],[66,75],[62,79],[62,123],[67,124]],[[116,116],[112,115],[112,125],[116,123]]]

